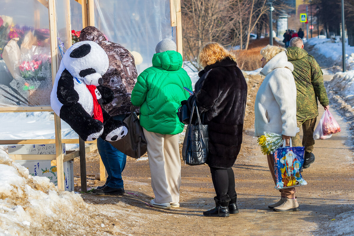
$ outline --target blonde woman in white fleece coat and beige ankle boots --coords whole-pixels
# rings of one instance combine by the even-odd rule
[[[264,47],[260,74],[265,76],[255,102],[255,136],[263,132],[281,133],[286,145],[297,132],[296,85],[292,75],[293,65],[287,61],[286,49],[278,46]],[[275,183],[274,161],[267,155],[270,172]],[[278,202],[269,205],[274,211],[298,211],[295,188],[281,189]]]

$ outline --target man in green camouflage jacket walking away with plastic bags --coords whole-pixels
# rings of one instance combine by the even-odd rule
[[[297,89],[296,96],[296,120],[297,127],[302,126],[302,146],[305,147],[305,161],[303,168],[310,167],[315,161],[313,155],[314,127],[318,116],[317,98],[325,110],[329,108],[326,88],[323,84],[323,72],[313,56],[303,49],[304,43],[301,38],[295,37],[290,40],[287,48],[288,61],[294,65],[292,74],[295,78]],[[293,146],[301,146],[300,134],[292,138]]]

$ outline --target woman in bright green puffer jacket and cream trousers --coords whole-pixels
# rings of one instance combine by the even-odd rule
[[[150,205],[164,209],[179,207],[178,134],[184,126],[176,112],[181,101],[189,97],[183,87],[192,90],[192,82],[182,69],[182,62],[175,42],[160,41],[153,56],[153,66],[138,76],[131,96],[132,104],[141,107],[140,124],[148,143],[151,186],[155,194]]]

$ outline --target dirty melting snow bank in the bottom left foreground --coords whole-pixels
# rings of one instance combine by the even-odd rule
[[[110,235],[108,219],[95,211],[79,194],[29,175],[0,150],[0,236]]]

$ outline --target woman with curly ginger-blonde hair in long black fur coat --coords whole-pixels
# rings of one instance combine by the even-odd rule
[[[216,207],[203,214],[227,217],[239,212],[232,166],[241,149],[247,84],[235,55],[221,44],[212,42],[202,47],[198,63],[204,70],[198,74],[188,107],[192,109],[195,101],[199,112],[204,113],[204,124],[209,125],[206,163],[216,192]]]

